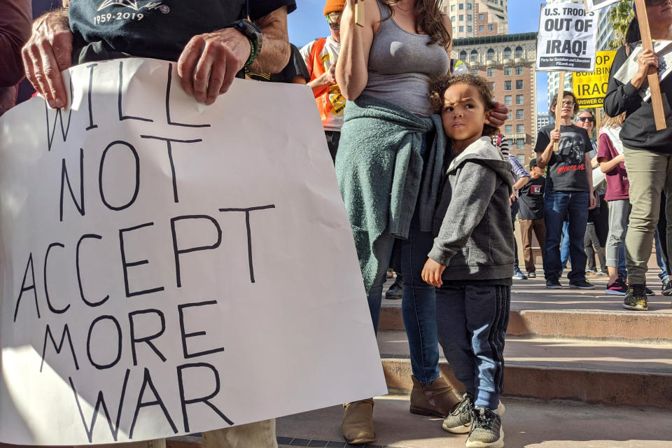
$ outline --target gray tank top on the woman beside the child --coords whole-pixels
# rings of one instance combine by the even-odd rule
[[[448,73],[450,57],[440,43],[427,45],[426,34],[402,29],[378,1],[381,23],[369,53],[369,79],[363,93],[384,99],[419,116],[430,116],[430,78]]]

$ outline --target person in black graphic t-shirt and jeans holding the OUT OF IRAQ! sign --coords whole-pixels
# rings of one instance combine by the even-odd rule
[[[554,114],[557,99],[551,104]],[[588,222],[588,210],[595,207],[592,170],[589,152],[592,150],[588,133],[581,127],[572,125],[572,116],[578,104],[572,92],[563,92],[561,104],[560,130],[555,125],[547,125],[539,130],[537,144],[537,165],[547,169],[544,216],[546,221],[546,241],[544,256],[544,276],[546,287],[562,288],[560,274],[560,238],[562,222],[569,216],[569,253],[572,271],[568,274],[570,288],[593,289],[586,281],[586,252],[583,239]],[[559,142],[558,151],[553,151]]]

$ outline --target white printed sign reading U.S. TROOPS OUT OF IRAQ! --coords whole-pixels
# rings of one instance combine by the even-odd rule
[[[538,71],[593,71],[597,16],[578,3],[541,6]]]

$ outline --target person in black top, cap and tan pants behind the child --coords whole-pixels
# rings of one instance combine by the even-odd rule
[[[544,221],[544,192],[546,190],[546,178],[544,170],[537,166],[537,160],[530,162],[531,178],[523,188],[519,190],[518,221],[523,240],[523,258],[528,276],[536,276],[536,267],[532,256],[532,232],[539,241],[542,258],[546,241],[546,223]]]

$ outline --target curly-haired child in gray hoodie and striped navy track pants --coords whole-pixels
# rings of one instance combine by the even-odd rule
[[[503,447],[499,395],[513,274],[511,167],[491,141],[496,129],[488,124],[493,103],[485,80],[445,76],[432,83],[430,98],[453,158],[422,278],[439,288],[439,342],[467,390],[443,428],[468,432],[467,447]]]

